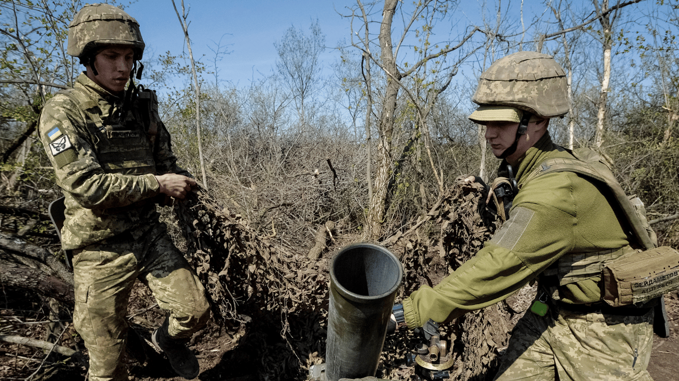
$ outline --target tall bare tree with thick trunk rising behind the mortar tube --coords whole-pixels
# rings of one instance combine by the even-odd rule
[[[361,0],[356,1],[356,7],[352,9],[351,18],[352,23],[358,20],[361,24],[361,29],[365,33],[354,33],[352,25],[352,46],[359,49],[366,62],[374,64],[380,70],[380,84],[372,83],[370,87],[366,87],[369,93],[369,102],[371,105],[375,104],[375,95],[380,95],[380,102],[376,104],[378,110],[369,108],[368,113],[371,117],[375,117],[378,126],[378,167],[375,169],[373,178],[373,195],[369,201],[367,212],[367,231],[366,235],[371,238],[380,237],[382,220],[386,209],[388,208],[388,194],[390,188],[394,186],[394,176],[397,175],[398,167],[401,163],[400,155],[394,152],[394,140],[397,138],[397,129],[394,129],[395,118],[397,115],[397,106],[399,92],[405,92],[407,98],[416,109],[415,123],[421,127],[422,134],[427,134],[426,130],[426,116],[432,104],[435,104],[438,94],[441,94],[450,83],[450,79],[457,73],[457,68],[460,62],[464,60],[466,53],[460,53],[458,60],[454,62],[447,62],[447,55],[460,49],[464,44],[471,39],[471,37],[478,31],[477,28],[471,28],[466,35],[460,38],[457,43],[439,43],[431,44],[429,40],[429,33],[433,28],[435,21],[439,18],[449,17],[450,3],[441,3],[439,1],[422,1],[415,3],[413,9],[403,10],[401,3],[397,0],[386,0],[382,7],[382,21],[380,22],[380,29],[377,35],[378,45],[375,46],[371,39],[369,26],[373,22],[371,19],[373,9],[376,9],[377,3],[363,4]],[[398,39],[392,36],[394,16],[397,12],[401,12],[401,20],[403,20],[403,31]],[[422,45],[415,47],[417,59],[415,62],[409,64],[402,62],[403,58],[399,56],[401,48],[404,47],[407,39],[413,38],[413,35],[420,36],[419,40]],[[456,36],[459,37],[459,36]],[[415,37],[416,39],[420,37]],[[394,43],[395,41],[395,43]],[[443,45],[443,46],[441,46]],[[461,49],[460,49],[461,51]],[[405,54],[405,53],[404,53]],[[440,65],[436,70],[430,70],[427,73],[428,62],[435,62]],[[364,70],[369,70],[371,66],[364,66]],[[437,75],[432,75],[437,73]],[[374,77],[372,73],[366,76]],[[411,79],[416,83],[416,86],[409,87],[406,79]],[[437,79],[442,79],[437,81]],[[419,86],[419,87],[417,87]],[[431,87],[426,89],[426,87]],[[376,88],[380,88],[378,92]],[[418,89],[419,88],[419,89]],[[424,98],[418,96],[424,94]],[[367,117],[368,122],[371,118]],[[419,134],[409,134],[411,137],[401,148],[406,148],[414,144],[414,140],[418,138]],[[425,137],[426,142],[426,137]],[[431,155],[429,155],[431,158]],[[433,168],[436,172],[436,169]],[[439,190],[443,184],[441,180],[437,180]]]

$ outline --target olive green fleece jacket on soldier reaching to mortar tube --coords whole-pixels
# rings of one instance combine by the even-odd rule
[[[553,172],[524,184],[547,159],[572,155],[549,134],[519,161],[519,184],[510,217],[483,249],[435,287],[424,285],[403,300],[408,327],[428,319],[449,321],[490,306],[536,279],[564,254],[619,249],[629,244],[603,186],[574,172]],[[563,302],[601,300],[600,279],[593,277],[559,288]]]

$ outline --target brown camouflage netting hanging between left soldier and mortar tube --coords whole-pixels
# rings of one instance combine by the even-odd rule
[[[202,190],[177,203],[175,214],[215,319],[232,333],[246,327],[232,361],[262,380],[304,380],[325,351],[324,262],[274,247]]]

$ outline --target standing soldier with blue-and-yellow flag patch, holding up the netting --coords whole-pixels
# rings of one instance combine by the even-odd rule
[[[86,72],[48,100],[39,122],[65,196],[61,239],[72,254],[73,323],[92,381],[128,379],[122,357],[135,279],[169,310],[153,343],[184,378],[200,371],[185,343],[210,315],[202,284],[155,208],[166,197],[183,199],[196,181],[177,165],[155,94],[132,81],[144,46],[139,24],[122,9],[83,7],[69,25],[67,52]]]

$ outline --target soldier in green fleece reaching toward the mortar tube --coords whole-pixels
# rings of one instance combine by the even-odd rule
[[[568,113],[563,68],[546,54],[511,54],[481,75],[473,100],[469,119],[485,125],[504,159],[498,173],[517,182],[509,220],[441,283],[394,306],[392,318],[409,328],[451,321],[537,280],[495,380],[651,380],[653,308],[602,300],[602,264],[638,247],[606,186],[575,172],[526,181],[547,159],[573,158],[547,132],[549,119]]]

